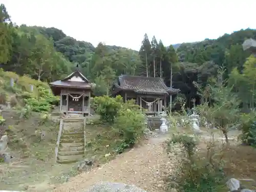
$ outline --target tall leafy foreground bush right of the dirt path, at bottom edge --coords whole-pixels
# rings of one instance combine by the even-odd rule
[[[207,155],[203,158],[198,152],[198,142],[194,137],[173,135],[166,144],[167,153],[175,154],[176,147],[181,147],[176,153],[177,169],[172,170],[172,175],[167,178],[167,182],[170,183],[167,188],[175,187],[182,192],[217,192],[226,187],[221,161],[214,158],[212,143],[208,143]]]

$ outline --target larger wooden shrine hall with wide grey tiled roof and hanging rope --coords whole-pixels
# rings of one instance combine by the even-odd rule
[[[147,115],[160,115],[166,108],[167,97],[175,95],[179,89],[169,88],[161,77],[140,77],[121,75],[113,83],[112,95],[120,95],[124,101],[134,99],[140,109],[146,109]]]

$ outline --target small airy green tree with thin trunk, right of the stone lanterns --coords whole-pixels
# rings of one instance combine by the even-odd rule
[[[223,80],[224,71],[219,71],[217,78],[212,78],[205,90],[200,90],[203,103],[198,105],[197,110],[201,116],[213,126],[220,129],[228,142],[227,133],[231,127],[239,123],[240,100],[232,87],[226,86]],[[210,103],[213,100],[214,102]]]

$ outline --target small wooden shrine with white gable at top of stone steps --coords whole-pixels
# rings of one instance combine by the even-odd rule
[[[60,96],[60,113],[90,115],[92,83],[79,70],[49,85],[53,94]]]

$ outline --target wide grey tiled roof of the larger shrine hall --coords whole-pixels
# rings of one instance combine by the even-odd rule
[[[121,75],[118,82],[114,83],[115,92],[121,90],[133,91],[142,94],[176,94],[180,90],[168,88],[161,77],[140,77],[131,75]]]

